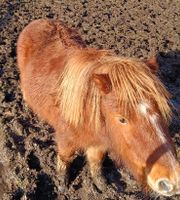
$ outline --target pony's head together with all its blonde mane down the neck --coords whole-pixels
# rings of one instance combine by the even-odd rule
[[[179,193],[180,166],[168,133],[169,95],[154,74],[154,62],[103,51],[76,53],[70,60],[59,88],[65,120],[105,130],[104,142],[136,179],[165,196]]]

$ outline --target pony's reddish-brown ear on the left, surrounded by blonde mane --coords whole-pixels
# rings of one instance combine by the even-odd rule
[[[93,74],[92,81],[104,94],[108,94],[112,89],[111,80],[108,74]]]

